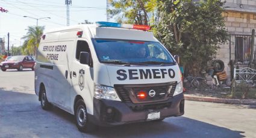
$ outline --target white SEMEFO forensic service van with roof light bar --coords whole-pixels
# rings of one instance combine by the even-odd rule
[[[180,68],[148,29],[96,22],[46,32],[35,68],[42,108],[72,113],[80,131],[184,115]]]

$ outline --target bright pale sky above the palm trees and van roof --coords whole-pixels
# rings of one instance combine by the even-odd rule
[[[8,13],[0,13],[0,38],[5,38],[5,47],[8,32],[10,46],[20,46],[28,26],[36,26],[36,19],[51,17],[38,20],[38,26],[45,26],[45,31],[67,25],[65,0],[0,0],[0,7],[8,10]],[[106,21],[106,7],[107,0],[72,0],[69,6],[69,24],[77,25],[84,20]]]

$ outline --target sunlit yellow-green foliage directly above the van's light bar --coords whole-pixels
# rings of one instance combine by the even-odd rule
[[[113,9],[107,12],[110,17],[117,16],[117,22],[149,25],[149,20],[154,20],[157,0],[109,0],[109,2]]]

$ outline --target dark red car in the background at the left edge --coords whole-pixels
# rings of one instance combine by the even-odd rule
[[[11,56],[7,61],[3,61],[0,64],[1,70],[17,69],[22,71],[23,68],[31,68],[34,70],[35,61],[31,56]]]

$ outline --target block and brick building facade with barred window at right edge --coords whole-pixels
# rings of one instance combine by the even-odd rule
[[[226,0],[225,7],[223,16],[230,37],[220,46],[216,58],[224,62],[226,74],[232,78],[229,61],[234,61],[234,66],[239,68],[249,64],[252,29],[256,29],[256,0]],[[255,41],[253,43],[255,46]],[[255,55],[255,49],[253,52]]]

